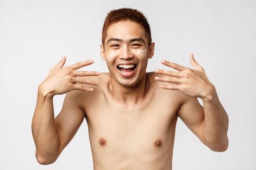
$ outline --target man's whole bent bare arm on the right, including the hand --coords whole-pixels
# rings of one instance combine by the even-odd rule
[[[229,123],[227,113],[218,100],[214,85],[208,80],[204,69],[196,62],[193,54],[190,56],[190,62],[194,69],[162,61],[162,64],[179,72],[157,69],[156,73],[168,75],[168,77],[155,77],[155,80],[170,83],[160,85],[161,88],[183,92],[183,101],[177,115],[211,150],[226,151]],[[202,99],[203,107],[197,97]]]

